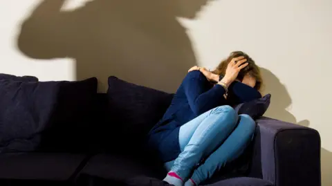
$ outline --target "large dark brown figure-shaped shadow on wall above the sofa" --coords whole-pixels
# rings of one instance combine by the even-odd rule
[[[194,18],[207,1],[94,0],[62,11],[65,0],[44,0],[22,24],[18,47],[35,59],[75,59],[77,80],[98,77],[100,91],[116,75],[174,92],[196,65],[176,17]]]

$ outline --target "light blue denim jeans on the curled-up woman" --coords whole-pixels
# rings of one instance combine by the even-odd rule
[[[181,154],[165,167],[199,185],[243,153],[255,127],[249,115],[237,115],[231,106],[216,107],[181,126]]]

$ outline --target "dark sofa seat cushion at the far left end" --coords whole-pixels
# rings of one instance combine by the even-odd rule
[[[86,158],[82,154],[0,154],[0,179],[68,180]]]

